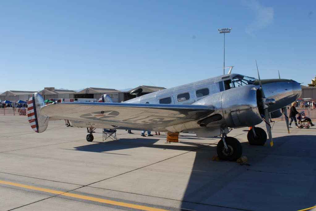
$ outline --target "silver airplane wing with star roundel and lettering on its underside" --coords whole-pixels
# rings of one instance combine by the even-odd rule
[[[67,102],[46,105],[40,114],[146,130],[194,121],[214,111],[213,106],[203,105]]]

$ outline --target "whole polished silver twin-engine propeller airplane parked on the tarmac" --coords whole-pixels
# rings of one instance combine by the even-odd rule
[[[66,102],[45,105],[34,93],[28,101],[28,119],[33,130],[42,133],[48,120],[70,120],[85,128],[135,129],[160,132],[194,132],[197,137],[221,136],[217,153],[223,160],[235,161],[242,154],[240,142],[228,137],[231,128],[252,127],[247,139],[263,145],[267,134],[255,125],[266,122],[271,146],[270,118],[286,116],[285,106],[301,95],[301,85],[288,79],[260,80],[240,74],[228,74],[168,88],[122,103],[101,96],[98,103]],[[101,102],[100,102],[101,101]],[[284,113],[285,112],[285,113]],[[288,123],[287,123],[288,126]],[[92,141],[92,133],[87,135]]]

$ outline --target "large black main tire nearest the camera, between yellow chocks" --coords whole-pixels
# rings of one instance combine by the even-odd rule
[[[218,157],[222,160],[236,161],[242,154],[242,146],[240,142],[233,137],[225,137],[225,142],[228,147],[228,151],[225,150],[224,142],[221,139],[216,147]]]

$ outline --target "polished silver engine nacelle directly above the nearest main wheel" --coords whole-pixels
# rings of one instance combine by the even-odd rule
[[[259,91],[257,90],[258,88],[254,85],[241,86],[212,94],[195,102],[194,105],[211,105],[216,108],[210,117],[199,121],[200,126],[236,128],[261,123],[262,117],[257,102]]]

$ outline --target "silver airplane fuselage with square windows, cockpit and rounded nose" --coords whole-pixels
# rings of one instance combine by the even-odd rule
[[[301,85],[288,79],[261,80],[265,97],[274,99],[276,103],[269,106],[268,111],[276,111],[289,105],[301,95]],[[146,94],[123,103],[151,103],[151,104],[184,104],[191,105],[212,94],[246,85],[260,88],[256,78],[240,74],[226,74],[185,85],[167,88]]]

